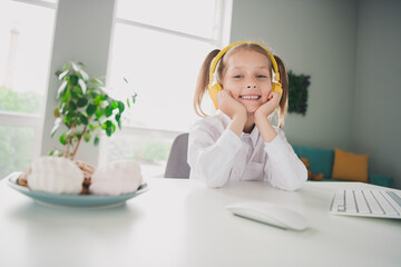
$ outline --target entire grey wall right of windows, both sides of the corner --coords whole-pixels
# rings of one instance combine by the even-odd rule
[[[398,0],[234,0],[231,41],[271,44],[311,76],[306,116],[290,113],[294,145],[370,154],[370,169],[401,188]]]

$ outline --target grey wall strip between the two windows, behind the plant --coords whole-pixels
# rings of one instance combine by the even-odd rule
[[[53,76],[69,60],[81,61],[94,77],[106,76],[115,0],[59,0],[55,27],[48,98],[41,155],[61,148],[58,136],[50,139],[55,122],[56,92],[60,86]],[[60,130],[60,129],[59,129]],[[82,144],[78,158],[97,165],[98,147]]]

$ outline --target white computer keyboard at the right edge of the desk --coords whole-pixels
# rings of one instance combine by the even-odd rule
[[[401,194],[391,190],[340,189],[331,214],[401,219]]]

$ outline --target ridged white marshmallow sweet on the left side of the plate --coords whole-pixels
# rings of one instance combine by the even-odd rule
[[[82,190],[84,174],[67,158],[41,157],[33,161],[27,181],[32,190],[78,195]]]

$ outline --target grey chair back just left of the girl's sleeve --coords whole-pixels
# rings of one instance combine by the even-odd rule
[[[165,178],[189,178],[189,165],[187,164],[188,132],[178,135],[172,145],[168,155]]]

